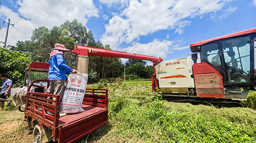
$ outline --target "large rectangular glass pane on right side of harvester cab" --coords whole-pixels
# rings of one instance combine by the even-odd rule
[[[222,42],[225,63],[229,66],[229,83],[250,82],[250,44],[247,42],[249,39],[247,36]]]

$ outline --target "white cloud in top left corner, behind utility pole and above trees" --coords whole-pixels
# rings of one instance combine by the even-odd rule
[[[77,19],[78,22],[86,25],[90,17],[98,17],[98,10],[93,4],[93,0],[47,0],[37,1],[33,5],[34,2],[35,1],[24,1],[17,13],[14,13],[13,11],[10,13],[10,16],[14,14],[11,18],[11,23],[16,23],[8,36],[7,44],[15,45],[15,42],[18,40],[29,40],[34,28],[39,26],[46,26],[50,29],[55,25],[59,26],[66,20],[73,21],[74,19]],[[21,4],[21,0],[17,3]],[[31,8],[29,9],[29,7]],[[2,6],[0,9],[0,18],[6,19],[10,11],[11,9]],[[24,18],[20,18],[25,12],[26,14],[23,16]],[[4,30],[5,28],[3,28],[2,32]],[[0,34],[1,37],[2,32]],[[3,39],[1,41],[3,41]]]

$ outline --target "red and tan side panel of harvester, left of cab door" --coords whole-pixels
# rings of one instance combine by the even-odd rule
[[[225,98],[221,74],[207,63],[193,65],[197,97]]]

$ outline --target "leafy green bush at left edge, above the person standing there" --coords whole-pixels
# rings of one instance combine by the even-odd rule
[[[8,74],[9,78],[15,83],[23,78],[25,69],[31,63],[29,54],[10,51],[0,47],[0,73]],[[0,81],[1,84],[3,81]]]

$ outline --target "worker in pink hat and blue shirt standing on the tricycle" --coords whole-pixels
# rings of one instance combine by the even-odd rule
[[[70,50],[64,45],[55,44],[49,60],[50,94],[60,95],[60,102],[64,92],[66,74],[77,73],[65,63],[64,52],[68,51]]]

